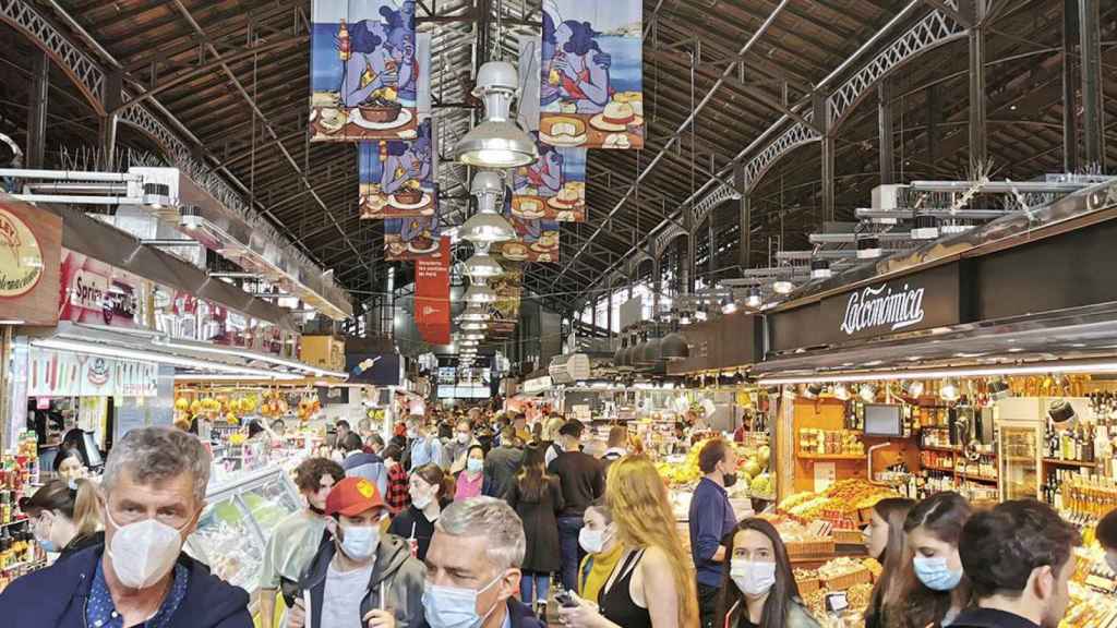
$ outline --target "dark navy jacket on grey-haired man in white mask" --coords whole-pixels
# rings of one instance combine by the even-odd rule
[[[12,581],[0,593],[0,624],[19,628],[85,626],[85,605],[104,550],[103,544],[87,548]],[[208,567],[184,553],[179,563],[190,572],[187,597],[165,628],[252,628],[244,589],[211,575]]]

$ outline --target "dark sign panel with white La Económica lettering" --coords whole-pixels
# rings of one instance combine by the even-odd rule
[[[821,339],[849,339],[955,325],[961,321],[958,265],[869,284],[822,301]]]

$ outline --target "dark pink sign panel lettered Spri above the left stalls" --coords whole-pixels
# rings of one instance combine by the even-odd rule
[[[131,273],[63,249],[58,318],[113,327],[145,326],[145,285]]]

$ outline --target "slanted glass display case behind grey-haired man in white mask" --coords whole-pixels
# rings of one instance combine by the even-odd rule
[[[268,467],[211,482],[206,501],[187,552],[218,578],[255,593],[271,531],[302,507],[298,491],[283,469]]]

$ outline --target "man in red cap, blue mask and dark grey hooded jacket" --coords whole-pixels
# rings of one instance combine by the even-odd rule
[[[327,533],[299,581],[287,628],[416,628],[426,569],[405,541],[381,532],[388,506],[376,485],[346,477],[326,497]]]

